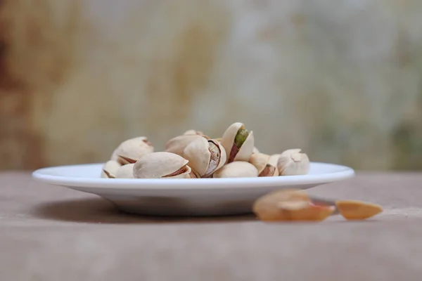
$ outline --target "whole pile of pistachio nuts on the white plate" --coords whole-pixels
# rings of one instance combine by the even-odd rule
[[[300,149],[266,155],[255,148],[252,131],[236,122],[221,138],[189,130],[154,152],[146,137],[121,143],[104,164],[102,178],[245,178],[305,175],[309,158]]]

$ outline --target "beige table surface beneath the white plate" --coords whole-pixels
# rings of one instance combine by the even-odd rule
[[[0,280],[422,280],[422,174],[309,190],[369,200],[369,221],[148,218],[96,195],[0,173]]]

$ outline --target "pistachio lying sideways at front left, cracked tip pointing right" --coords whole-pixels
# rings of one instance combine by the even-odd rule
[[[188,160],[171,152],[143,155],[134,165],[135,178],[186,178],[191,173]]]

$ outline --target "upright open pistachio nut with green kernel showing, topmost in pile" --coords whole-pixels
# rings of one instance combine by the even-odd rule
[[[249,161],[254,148],[253,133],[246,130],[242,123],[236,122],[224,132],[222,145],[226,150],[227,163]]]

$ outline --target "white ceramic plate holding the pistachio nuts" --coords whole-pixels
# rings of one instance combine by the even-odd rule
[[[354,176],[347,166],[312,162],[305,176],[262,178],[101,178],[103,164],[34,171],[44,183],[94,193],[129,213],[160,216],[248,214],[260,196],[283,188],[307,189]]]

